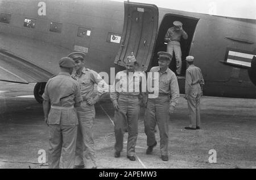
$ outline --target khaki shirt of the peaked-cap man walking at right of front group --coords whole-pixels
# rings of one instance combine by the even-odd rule
[[[179,84],[175,73],[169,68],[167,68],[165,72],[160,73],[159,66],[151,68],[150,73],[152,73],[152,75],[150,76],[150,74],[148,74],[147,77],[148,93],[152,93],[155,90],[155,84],[158,85],[159,94],[170,94],[170,105],[175,107],[180,97]],[[158,73],[159,79],[156,78],[154,73]]]

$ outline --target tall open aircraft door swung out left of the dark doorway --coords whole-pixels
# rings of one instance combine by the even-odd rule
[[[123,35],[115,64],[125,66],[123,60],[134,53],[139,65],[147,70],[158,31],[158,7],[125,2]]]

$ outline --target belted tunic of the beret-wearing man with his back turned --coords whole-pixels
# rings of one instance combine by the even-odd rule
[[[82,101],[79,83],[69,73],[60,72],[46,83],[43,99],[51,106],[72,107]],[[77,125],[77,115],[74,110],[51,108],[48,114],[48,124]]]

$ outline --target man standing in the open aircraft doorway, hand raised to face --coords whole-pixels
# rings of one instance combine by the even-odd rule
[[[183,39],[188,39],[187,33],[182,28],[182,23],[179,21],[174,22],[174,27],[171,27],[167,30],[166,36],[164,37],[164,41],[167,44],[167,52],[173,55],[175,53],[176,58],[176,73],[177,76],[181,76],[181,49],[180,49],[180,39],[183,37]]]

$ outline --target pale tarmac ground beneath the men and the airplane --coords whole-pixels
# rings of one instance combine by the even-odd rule
[[[0,168],[48,168],[39,162],[48,150],[48,129],[42,104],[33,96],[35,84],[0,82]],[[97,168],[256,168],[256,99],[201,98],[201,129],[186,130],[187,101],[181,95],[169,122],[169,161],[158,145],[146,155],[143,115],[139,119],[136,161],[126,158],[127,133],[120,158],[114,158],[113,105],[106,95],[94,120]],[[216,152],[216,163],[210,163]]]

